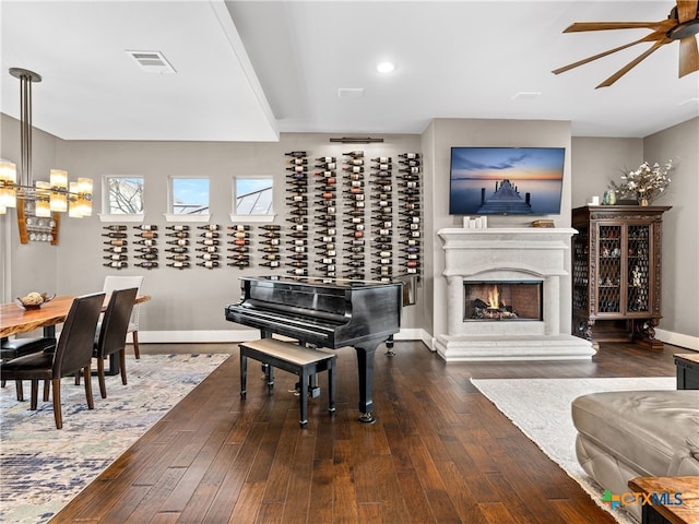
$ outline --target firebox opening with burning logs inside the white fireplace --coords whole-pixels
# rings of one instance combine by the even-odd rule
[[[543,320],[542,281],[465,281],[463,286],[464,322]]]

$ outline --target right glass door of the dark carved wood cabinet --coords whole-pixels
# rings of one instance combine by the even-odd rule
[[[629,313],[650,310],[650,227],[628,226],[626,309]]]

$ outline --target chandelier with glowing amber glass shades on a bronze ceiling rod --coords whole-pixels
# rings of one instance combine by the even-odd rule
[[[79,178],[68,183],[68,171],[51,169],[49,181],[34,181],[32,174],[32,83],[42,76],[33,71],[10,68],[20,79],[20,178],[16,165],[0,158],[0,214],[8,207],[34,203],[34,215],[50,217],[51,212],[66,212],[81,218],[92,215],[92,179]]]

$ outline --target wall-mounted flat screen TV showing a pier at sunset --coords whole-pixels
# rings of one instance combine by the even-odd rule
[[[449,214],[560,214],[565,154],[565,147],[452,147]]]

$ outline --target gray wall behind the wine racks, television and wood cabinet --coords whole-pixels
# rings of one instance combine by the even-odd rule
[[[17,159],[19,124],[1,116],[0,155]],[[422,135],[387,136],[383,144],[346,146],[330,144],[329,134],[283,134],[279,143],[171,143],[171,142],[69,142],[42,131],[34,133],[34,172],[47,179],[51,167],[69,170],[69,178],[95,180],[95,213],[100,211],[100,180],[106,175],[142,175],[146,179],[146,224],[166,223],[167,177],[205,175],[212,181],[212,223],[230,224],[232,177],[272,175],[276,183],[275,201],[284,202],[284,152],[306,150],[311,156],[340,156],[352,148],[363,148],[371,156],[394,156],[398,152],[420,151],[424,155],[424,278],[418,288],[418,303],[404,311],[404,327],[423,329],[430,335],[443,332],[446,300],[443,252],[436,231],[460,227],[461,217],[448,214],[449,151],[452,145],[555,145],[567,147],[566,184],[560,215],[556,224],[570,224],[570,209],[584,205],[593,194],[602,193],[611,180],[618,180],[625,168],[649,160],[674,158],[677,169],[673,186],[657,201],[673,205],[666,214],[664,229],[664,315],[661,330],[683,336],[699,336],[696,321],[699,284],[697,282],[699,167],[696,144],[699,119],[642,139],[570,138],[568,122],[478,119],[437,119]],[[277,211],[283,207],[277,205]],[[276,223],[284,223],[279,215]],[[494,227],[523,226],[526,218],[494,217]],[[142,308],[142,331],[218,331],[230,330],[223,319],[223,307],[238,298],[237,277],[259,274],[259,269],[209,271],[117,272],[102,266],[103,225],[98,217],[68,218],[61,223],[58,248],[32,243],[21,246],[13,214],[0,215],[0,243],[10,252],[0,258],[3,275],[3,300],[34,289],[60,294],[80,294],[102,288],[107,274],[145,274],[145,293],[153,300]],[[163,253],[162,253],[163,254]],[[561,286],[562,287],[562,286]],[[569,318],[568,312],[561,318]],[[690,341],[691,343],[691,341]],[[689,346],[687,346],[689,347]]]

